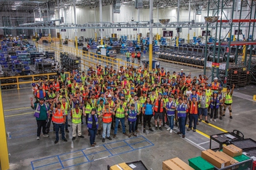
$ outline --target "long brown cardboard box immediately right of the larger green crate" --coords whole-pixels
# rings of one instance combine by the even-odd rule
[[[218,167],[219,169],[224,168],[228,165],[230,165],[230,163],[228,163],[227,159],[223,159],[221,157],[219,157],[218,155],[216,155],[216,153],[210,149],[206,150],[206,151],[202,151],[202,158],[206,159],[206,161],[208,161],[209,163],[212,163],[212,165],[214,165],[215,167]]]

